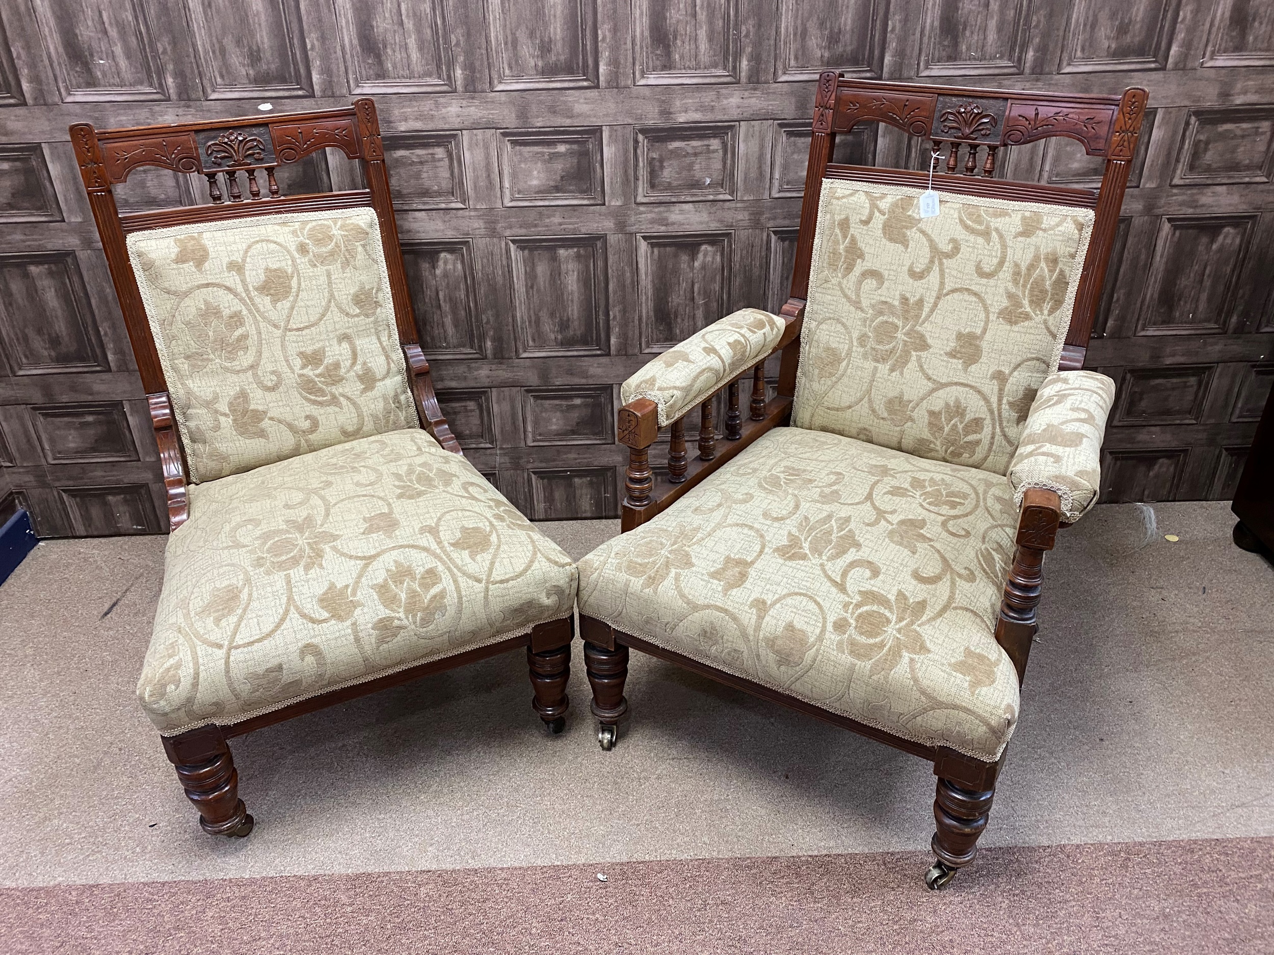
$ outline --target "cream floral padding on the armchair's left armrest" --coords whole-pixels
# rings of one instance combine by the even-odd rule
[[[619,400],[650,399],[662,428],[769,354],[784,327],[782,318],[759,308],[727,315],[650,362],[620,386]]]

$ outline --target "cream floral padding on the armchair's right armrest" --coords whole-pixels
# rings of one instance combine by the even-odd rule
[[[1057,372],[1045,379],[1009,466],[1019,506],[1027,488],[1057,492],[1066,521],[1078,521],[1097,503],[1102,435],[1113,401],[1115,382],[1097,372]]]

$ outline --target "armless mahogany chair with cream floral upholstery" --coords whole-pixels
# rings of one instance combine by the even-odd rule
[[[70,134],[167,488],[138,697],[204,830],[252,829],[228,739],[519,647],[559,732],[576,572],[438,407],[375,103]],[[327,148],[367,188],[284,196]],[[211,204],[121,215],[141,166]]]

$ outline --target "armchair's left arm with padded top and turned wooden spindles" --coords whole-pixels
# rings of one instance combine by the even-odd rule
[[[620,388],[618,437],[628,446],[622,528],[631,531],[697,485],[791,414],[805,303],[784,306],[782,316],[747,308],[665,351]],[[766,400],[764,364],[782,350],[778,396]],[[748,376],[750,372],[750,376]],[[747,418],[740,413],[740,379],[752,378]],[[712,400],[727,390],[725,441],[719,444]],[[699,455],[687,460],[684,416],[699,406]],[[669,476],[650,467],[650,446],[671,425]]]

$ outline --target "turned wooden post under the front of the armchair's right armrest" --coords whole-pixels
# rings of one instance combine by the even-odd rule
[[[1043,582],[1043,554],[1052,550],[1061,522],[1061,499],[1056,492],[1027,488],[1018,517],[1013,567],[1004,584],[1004,598],[995,625],[995,642],[1013,661],[1020,684],[1031,656],[1031,640],[1038,629],[1036,607]]]

